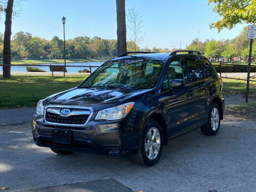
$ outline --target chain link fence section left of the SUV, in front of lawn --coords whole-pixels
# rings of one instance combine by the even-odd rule
[[[81,84],[97,66],[11,65],[11,78],[3,78],[0,65],[0,108],[34,107],[40,99]]]

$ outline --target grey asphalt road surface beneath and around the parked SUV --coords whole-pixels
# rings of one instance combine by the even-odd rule
[[[170,140],[161,161],[143,167],[133,164],[128,156],[55,155],[48,148],[35,146],[29,124],[2,127],[0,187],[15,191],[79,182],[84,189],[81,191],[92,191],[93,184],[83,182],[106,179],[117,190],[126,186],[133,191],[254,191],[255,138],[256,122],[223,121],[215,137],[196,130]],[[92,188],[86,188],[88,185]],[[70,185],[66,186],[70,189]],[[99,186],[107,189],[111,185],[95,185]],[[43,189],[39,191],[47,191]]]

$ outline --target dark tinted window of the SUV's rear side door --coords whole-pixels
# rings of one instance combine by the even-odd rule
[[[195,57],[186,58],[187,66],[190,74],[190,80],[197,81],[204,78],[204,71],[199,63],[199,60]]]

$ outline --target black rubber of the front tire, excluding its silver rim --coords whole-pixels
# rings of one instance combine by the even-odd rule
[[[153,128],[153,127],[154,127],[154,129],[156,128],[159,132],[160,137],[158,137],[158,139],[160,138],[160,147],[159,147],[159,151],[158,151],[158,154],[156,155],[156,157],[153,157],[154,159],[149,159],[149,157],[147,155],[147,151],[145,149],[145,145],[146,145],[145,142],[146,142],[146,139],[147,139],[147,133],[149,132],[149,129]],[[153,140],[153,142],[154,142],[154,140]],[[153,147],[153,146],[151,146],[151,147]],[[154,147],[151,148],[151,149],[155,150]],[[163,131],[162,131],[162,127],[154,119],[149,119],[145,123],[143,133],[141,134],[139,149],[138,149],[137,153],[131,155],[132,160],[133,160],[133,162],[135,162],[137,164],[140,164],[140,165],[152,166],[152,165],[154,165],[158,162],[159,158],[161,157],[162,150],[163,150]]]

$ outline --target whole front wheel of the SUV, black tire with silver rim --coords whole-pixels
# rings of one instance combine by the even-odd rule
[[[152,166],[158,162],[162,154],[163,131],[162,127],[154,119],[149,119],[144,127],[143,133],[141,134],[139,149],[137,153],[132,154],[131,157],[137,164]]]

